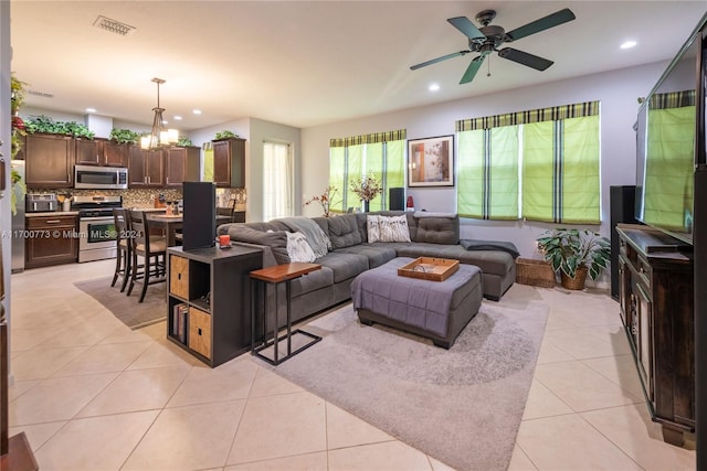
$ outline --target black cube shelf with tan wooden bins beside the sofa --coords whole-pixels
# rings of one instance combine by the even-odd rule
[[[251,349],[249,274],[262,268],[257,248],[233,245],[167,250],[167,339],[211,367]]]

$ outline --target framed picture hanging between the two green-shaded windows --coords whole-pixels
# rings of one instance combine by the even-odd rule
[[[454,136],[408,140],[408,188],[454,186]]]

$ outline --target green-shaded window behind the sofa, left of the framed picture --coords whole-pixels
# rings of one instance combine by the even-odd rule
[[[388,207],[388,190],[404,186],[405,130],[331,139],[329,143],[329,185],[339,192],[331,211],[345,213],[360,207],[361,201],[350,190],[350,182],[372,175],[383,192],[370,202],[370,211]]]

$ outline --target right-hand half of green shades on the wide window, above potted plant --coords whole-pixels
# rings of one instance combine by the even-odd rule
[[[600,222],[599,116],[524,126],[523,216]]]

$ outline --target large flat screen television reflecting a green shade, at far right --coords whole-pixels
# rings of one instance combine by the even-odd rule
[[[704,128],[706,18],[643,100],[636,121],[636,220],[688,244],[695,165],[705,162],[698,129]]]

